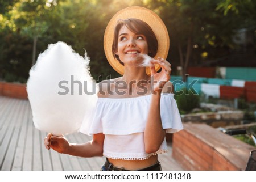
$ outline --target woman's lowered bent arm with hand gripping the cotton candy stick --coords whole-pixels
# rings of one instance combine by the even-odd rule
[[[44,139],[46,149],[53,149],[58,153],[69,154],[81,157],[102,156],[104,134],[93,134],[92,141],[86,143],[69,143],[64,136],[52,136],[48,134]]]

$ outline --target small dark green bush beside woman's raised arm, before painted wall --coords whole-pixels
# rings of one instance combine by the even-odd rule
[[[175,95],[175,99],[180,112],[191,112],[200,107],[200,96],[193,91],[183,90],[183,94]]]

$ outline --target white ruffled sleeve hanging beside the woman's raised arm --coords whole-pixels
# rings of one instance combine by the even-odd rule
[[[166,133],[175,133],[183,129],[174,94],[162,94],[160,109],[162,125],[163,129],[167,129]]]

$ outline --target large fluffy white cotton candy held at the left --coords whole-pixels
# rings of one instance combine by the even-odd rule
[[[37,129],[55,135],[71,134],[97,101],[96,82],[89,72],[89,58],[63,42],[50,44],[39,55],[27,82],[28,99]]]

